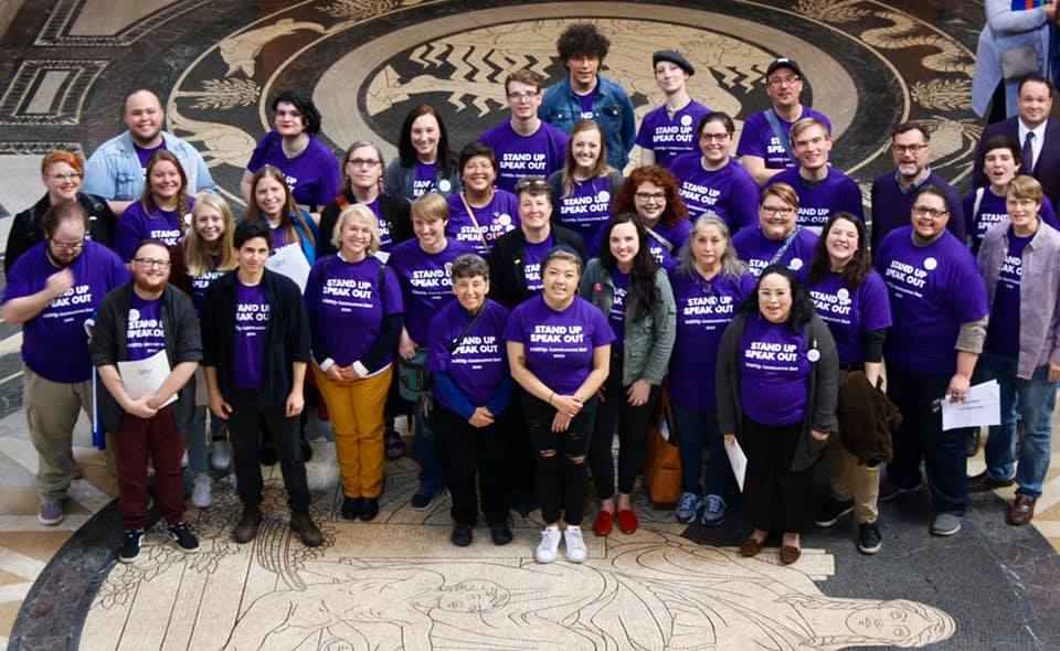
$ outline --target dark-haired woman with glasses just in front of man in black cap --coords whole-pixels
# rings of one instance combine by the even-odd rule
[[[681,154],[670,163],[690,218],[696,221],[713,212],[731,233],[755,223],[759,196],[759,184],[732,158],[734,131],[729,114],[708,113],[696,128],[699,151]]]

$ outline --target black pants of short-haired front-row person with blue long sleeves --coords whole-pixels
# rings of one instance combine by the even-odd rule
[[[453,497],[449,513],[456,524],[477,524],[479,500],[490,525],[508,519],[508,445],[502,419],[504,415],[494,425],[475,427],[442,405],[434,405],[431,426],[444,449],[445,482]]]

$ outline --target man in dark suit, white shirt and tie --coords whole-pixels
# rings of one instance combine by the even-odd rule
[[[976,188],[989,184],[983,173],[983,143],[992,136],[1006,136],[1019,145],[1020,171],[1038,179],[1046,195],[1057,205],[1060,201],[1060,122],[1049,119],[1052,83],[1038,74],[1024,77],[1019,83],[1018,108],[1019,115],[994,122],[983,131],[975,150],[972,182]]]

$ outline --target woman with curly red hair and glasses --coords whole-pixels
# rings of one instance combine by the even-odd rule
[[[669,170],[659,166],[633,170],[618,190],[614,211],[636,214],[648,234],[648,253],[655,264],[667,271],[677,267],[677,252],[688,242],[692,226]]]

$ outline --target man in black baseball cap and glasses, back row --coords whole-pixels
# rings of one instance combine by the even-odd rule
[[[795,166],[788,139],[792,125],[803,118],[816,118],[831,130],[825,114],[801,104],[803,71],[797,63],[787,57],[777,58],[765,71],[765,93],[773,106],[748,118],[736,147],[740,163],[759,185],[765,185],[784,168]]]

